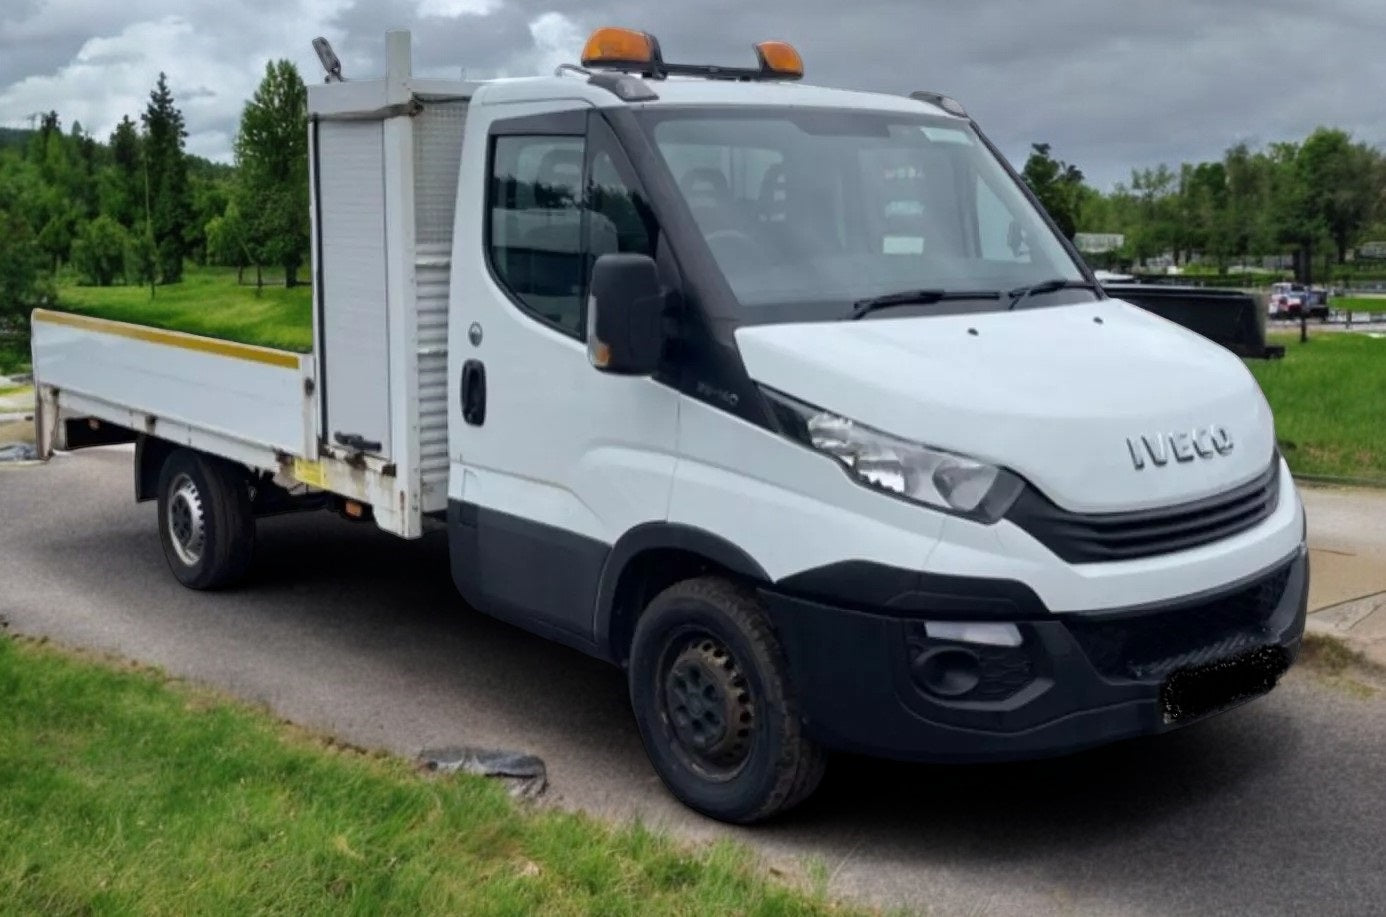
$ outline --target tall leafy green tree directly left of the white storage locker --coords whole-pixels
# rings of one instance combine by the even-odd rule
[[[288,61],[265,66],[236,136],[237,194],[256,263],[292,287],[308,256],[308,90]]]

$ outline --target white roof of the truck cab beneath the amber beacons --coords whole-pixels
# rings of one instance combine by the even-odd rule
[[[870,111],[900,111],[908,114],[942,115],[955,118],[929,103],[909,96],[865,93],[829,89],[807,83],[779,80],[728,80],[686,76],[647,79],[646,86],[658,96],[651,101],[622,101],[615,93],[589,83],[578,73],[564,76],[532,76],[498,79],[484,83],[473,101],[480,105],[502,103],[549,101],[557,98],[584,100],[599,108],[618,105],[801,105],[811,108],[861,108]]]

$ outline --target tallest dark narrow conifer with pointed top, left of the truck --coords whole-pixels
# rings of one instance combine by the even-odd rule
[[[144,122],[146,194],[150,234],[159,253],[159,281],[173,284],[183,278],[187,256],[187,230],[191,202],[187,187],[187,157],[183,141],[187,130],[183,112],[173,104],[168,78],[150,91],[150,103],[140,116]]]

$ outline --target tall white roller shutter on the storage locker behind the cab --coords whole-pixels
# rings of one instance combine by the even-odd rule
[[[319,127],[327,439],[389,443],[384,137],[378,122]]]

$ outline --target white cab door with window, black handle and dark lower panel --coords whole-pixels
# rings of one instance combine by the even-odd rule
[[[602,253],[653,256],[660,233],[600,112],[471,111],[486,114],[453,252],[453,576],[482,611],[582,644],[611,544],[668,517],[678,429],[672,388],[590,364],[588,278]]]

